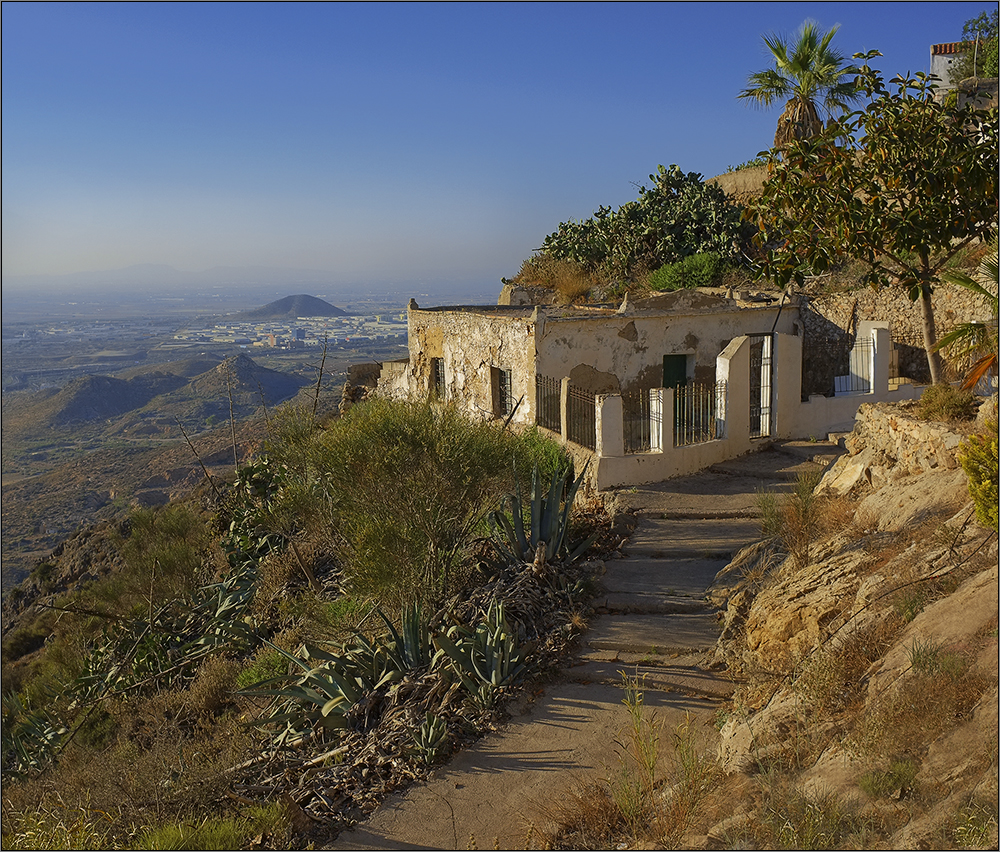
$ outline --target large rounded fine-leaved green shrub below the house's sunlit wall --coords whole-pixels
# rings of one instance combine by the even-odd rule
[[[289,469],[273,514],[286,534],[332,539],[352,596],[441,601],[468,579],[466,548],[515,479],[557,463],[553,444],[453,406],[366,400],[307,439],[272,435],[268,454]]]

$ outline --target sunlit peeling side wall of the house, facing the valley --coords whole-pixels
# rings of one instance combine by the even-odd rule
[[[410,391],[430,393],[431,359],[444,359],[445,398],[473,413],[493,413],[491,367],[510,370],[516,402],[524,397],[515,419],[534,419],[535,336],[532,309],[497,313],[460,308],[410,310]]]

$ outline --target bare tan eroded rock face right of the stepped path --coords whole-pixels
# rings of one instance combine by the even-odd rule
[[[716,661],[747,679],[721,732],[724,768],[752,771],[792,755],[804,795],[877,809],[862,777],[909,761],[913,780],[894,796],[921,798],[891,848],[934,848],[973,796],[996,790],[997,540],[974,520],[954,458],[960,441],[905,410],[863,406],[849,455],[821,483],[829,495],[851,495],[853,518],[816,542],[804,567],[779,561],[773,543],[745,548],[710,593],[725,607]],[[904,614],[910,594],[924,597]],[[876,650],[817,704],[822,684],[810,685],[810,671],[835,668],[862,644]],[[945,663],[950,655],[955,671],[915,662],[918,652]],[[955,706],[923,739],[894,727],[925,700],[930,716],[941,701]],[[926,717],[913,712],[916,729]]]

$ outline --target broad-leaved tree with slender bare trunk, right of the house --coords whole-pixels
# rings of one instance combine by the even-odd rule
[[[818,136],[771,152],[772,175],[746,215],[767,247],[761,271],[801,282],[836,260],[866,263],[868,280],[895,281],[919,300],[931,378],[941,381],[931,293],[956,252],[997,226],[997,110],[934,100],[927,75],[889,91],[867,60],[864,109]]]

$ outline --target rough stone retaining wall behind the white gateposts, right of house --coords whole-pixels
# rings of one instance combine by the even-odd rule
[[[958,323],[986,321],[992,316],[985,299],[952,284],[935,287],[933,305],[938,337]],[[865,287],[847,293],[802,296],[799,313],[805,332],[803,399],[810,394],[833,392],[833,377],[845,374],[857,324],[864,320],[889,323],[899,358],[896,375],[920,383],[930,381],[920,305],[911,302],[901,287]]]

